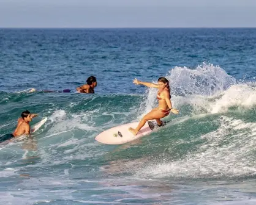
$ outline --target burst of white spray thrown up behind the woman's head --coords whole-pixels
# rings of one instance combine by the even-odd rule
[[[234,77],[229,76],[219,66],[203,63],[195,69],[175,67],[167,75],[171,93],[174,95],[211,96],[227,90],[236,84]]]

